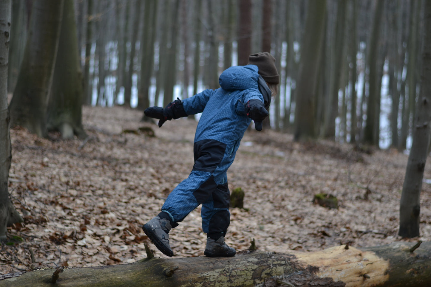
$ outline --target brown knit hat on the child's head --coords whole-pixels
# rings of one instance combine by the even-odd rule
[[[256,65],[259,68],[259,75],[262,76],[265,82],[269,84],[280,83],[280,76],[275,67],[275,59],[270,53],[263,52],[248,56],[247,65]]]

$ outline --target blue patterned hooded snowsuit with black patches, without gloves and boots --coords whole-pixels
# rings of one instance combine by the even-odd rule
[[[244,103],[252,99],[264,102],[257,72],[255,65],[230,67],[220,75],[219,89],[182,100],[187,115],[202,115],[194,138],[193,169],[162,206],[173,222],[182,221],[202,204],[203,232],[226,234],[230,223],[226,172],[251,122]]]

